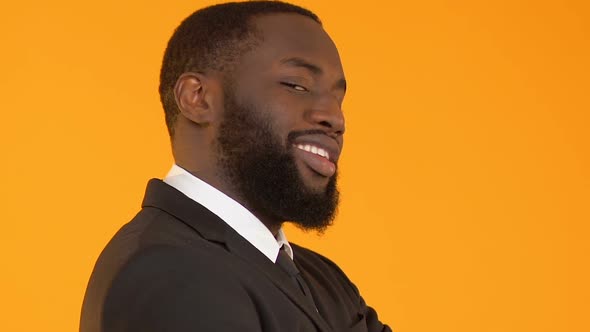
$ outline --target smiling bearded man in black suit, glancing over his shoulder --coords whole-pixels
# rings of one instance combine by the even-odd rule
[[[176,164],[99,257],[80,330],[391,331],[281,230],[334,218],[345,90],[306,9],[228,3],[182,22],[160,82]]]

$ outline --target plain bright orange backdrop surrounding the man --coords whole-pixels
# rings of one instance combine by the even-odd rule
[[[166,41],[210,3],[0,5],[1,331],[77,330],[172,163]],[[296,3],[339,46],[348,132],[336,225],[289,238],[398,332],[590,331],[588,2]]]

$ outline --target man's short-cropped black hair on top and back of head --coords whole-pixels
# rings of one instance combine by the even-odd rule
[[[197,10],[174,31],[164,52],[160,70],[160,100],[168,133],[180,112],[174,99],[174,85],[185,72],[216,70],[229,73],[239,58],[258,40],[252,18],[276,13],[307,16],[320,25],[311,11],[281,1],[229,2]]]

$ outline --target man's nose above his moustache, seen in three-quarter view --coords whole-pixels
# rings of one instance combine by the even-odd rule
[[[318,98],[308,112],[308,121],[333,136],[344,134],[344,113],[342,113],[340,101],[333,95]]]

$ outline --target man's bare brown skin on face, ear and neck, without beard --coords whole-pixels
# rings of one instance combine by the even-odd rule
[[[254,23],[263,40],[242,56],[232,73],[236,100],[264,112],[285,144],[293,131],[314,130],[299,137],[292,151],[305,185],[325,190],[344,134],[346,81],[336,46],[317,22],[301,15],[265,15]],[[222,79],[214,71],[179,77],[173,154],[176,164],[253,211],[216,165],[215,142],[224,113]],[[321,148],[329,157],[304,151],[305,145]],[[253,213],[273,235],[285,221]]]

